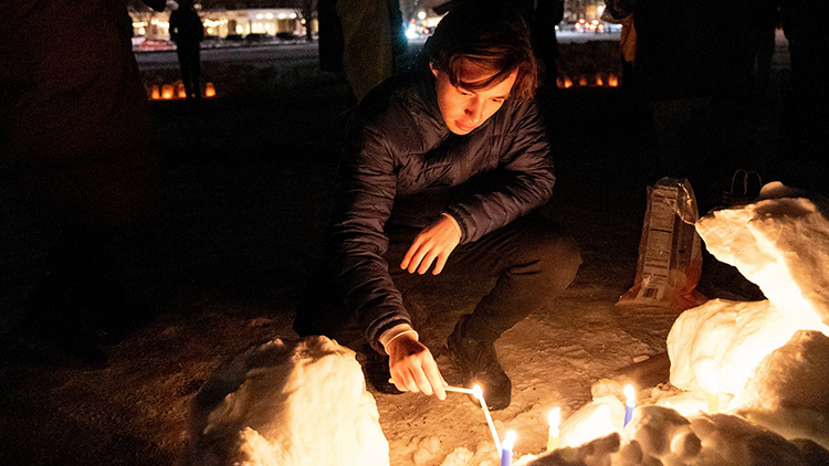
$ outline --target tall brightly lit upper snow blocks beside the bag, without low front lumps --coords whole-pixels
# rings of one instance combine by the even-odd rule
[[[683,313],[668,336],[671,383],[703,392],[715,383],[738,398],[759,361],[796,331],[829,335],[829,221],[806,198],[775,198],[716,211],[696,229],[712,254],[768,299],[716,299]]]

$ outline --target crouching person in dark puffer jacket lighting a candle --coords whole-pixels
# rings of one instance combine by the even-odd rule
[[[479,383],[497,410],[512,384],[495,340],[558,296],[581,258],[573,237],[535,211],[555,176],[526,24],[508,7],[469,3],[353,115],[324,265],[294,330],[366,342],[377,390],[442,400],[445,382],[418,340],[406,292],[426,286],[428,272],[495,278],[471,314],[445,318],[458,320],[447,348],[463,382]]]

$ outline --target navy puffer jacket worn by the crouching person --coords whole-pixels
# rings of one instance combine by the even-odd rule
[[[387,80],[360,102],[339,174],[329,265],[336,293],[379,351],[385,330],[411,324],[382,257],[387,224],[426,226],[447,212],[469,243],[546,203],[555,183],[535,103],[507,98],[458,136],[443,121],[428,67]]]

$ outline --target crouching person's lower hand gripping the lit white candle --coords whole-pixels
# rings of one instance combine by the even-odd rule
[[[395,339],[386,347],[386,352],[389,353],[391,381],[398,390],[434,394],[439,400],[447,398],[443,390],[447,382],[438,370],[438,363],[429,348],[414,336],[403,335]]]

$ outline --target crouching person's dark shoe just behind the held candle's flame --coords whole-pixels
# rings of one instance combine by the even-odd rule
[[[512,382],[501,368],[492,342],[479,341],[463,335],[469,317],[462,316],[458,321],[454,331],[447,339],[447,349],[461,371],[463,384],[481,385],[487,407],[493,411],[503,410],[510,405]]]

